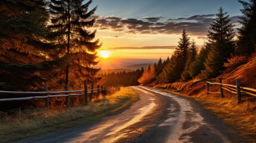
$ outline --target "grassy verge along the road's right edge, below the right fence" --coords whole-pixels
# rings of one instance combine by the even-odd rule
[[[243,136],[246,136],[250,142],[256,142],[255,101],[246,100],[238,104],[236,96],[228,95],[227,92],[224,92],[224,95],[227,95],[225,98],[220,98],[220,95],[206,95],[205,91],[190,96],[166,89],[164,91],[201,102],[206,110],[223,119],[225,123],[238,130]]]

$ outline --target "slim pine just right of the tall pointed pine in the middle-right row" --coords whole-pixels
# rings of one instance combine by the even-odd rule
[[[196,42],[193,39],[192,45],[189,48],[189,58],[187,58],[185,69],[184,69],[183,73],[181,74],[181,79],[183,81],[192,79],[192,76],[190,76],[189,70],[190,70],[190,66],[193,63],[193,61],[196,60],[196,55],[197,55]]]

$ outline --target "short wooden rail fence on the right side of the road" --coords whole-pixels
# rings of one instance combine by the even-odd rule
[[[220,92],[210,92],[209,85],[220,85]],[[206,82],[206,91],[208,94],[220,94],[221,98],[224,98],[223,89],[229,91],[233,94],[236,94],[238,97],[238,103],[241,102],[241,94],[248,94],[256,97],[256,89],[246,88],[240,86],[240,79],[236,80],[236,85],[229,85],[226,83],[222,83],[222,80],[219,80],[219,83]]]

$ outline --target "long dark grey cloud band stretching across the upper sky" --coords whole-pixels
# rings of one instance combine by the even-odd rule
[[[139,18],[120,18],[113,15],[94,18],[96,19],[95,27],[99,30],[141,35],[180,35],[183,29],[187,29],[189,35],[202,37],[207,34],[214,17],[215,14],[191,15],[168,20],[161,20],[164,17],[143,17],[141,20]],[[232,23],[237,23],[238,16],[230,18]]]

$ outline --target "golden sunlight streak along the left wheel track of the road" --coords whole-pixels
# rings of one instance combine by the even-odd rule
[[[135,132],[130,130],[129,126],[143,120],[143,117],[149,114],[156,104],[154,102],[155,99],[149,96],[153,94],[140,88],[132,88],[144,93],[144,96],[140,99],[143,102],[136,102],[131,109],[124,111],[118,116],[110,117],[109,120],[82,133],[78,138],[69,142],[115,142],[122,137],[128,136],[129,133]],[[141,127],[140,131],[142,130],[143,127]]]

